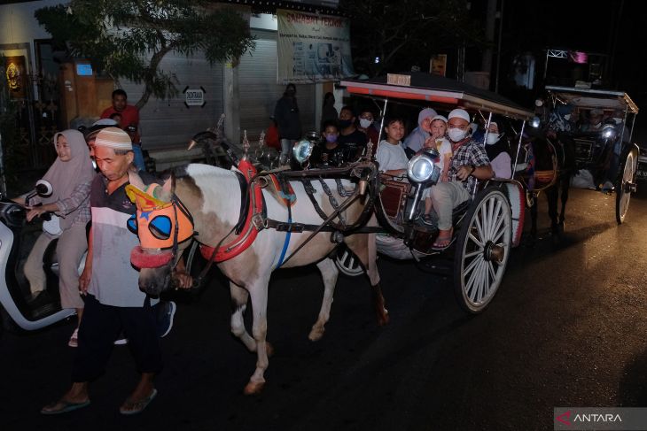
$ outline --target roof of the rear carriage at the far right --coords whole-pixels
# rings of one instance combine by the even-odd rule
[[[555,94],[563,102],[573,104],[581,108],[605,108],[622,109],[628,108],[629,112],[637,114],[638,105],[624,91],[605,89],[578,89],[574,87],[560,87],[547,85],[547,91]]]

